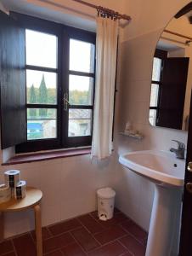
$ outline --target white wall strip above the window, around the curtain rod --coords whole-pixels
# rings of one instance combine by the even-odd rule
[[[53,20],[68,26],[75,26],[88,31],[95,31],[97,11],[71,0],[0,0],[7,9],[26,15]],[[125,0],[91,0],[96,5],[123,12]]]

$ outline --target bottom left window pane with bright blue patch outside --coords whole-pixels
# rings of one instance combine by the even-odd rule
[[[56,116],[54,108],[28,108],[27,140],[57,137]]]

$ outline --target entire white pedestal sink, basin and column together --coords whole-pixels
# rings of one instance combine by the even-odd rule
[[[119,161],[155,184],[145,255],[178,255],[185,160],[169,152],[145,150],[123,154]]]

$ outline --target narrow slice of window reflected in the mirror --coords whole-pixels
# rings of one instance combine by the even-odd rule
[[[159,100],[161,95],[161,75],[163,60],[167,58],[167,52],[161,49],[155,50],[153,60],[152,83],[150,91],[150,124],[156,125],[158,121]]]

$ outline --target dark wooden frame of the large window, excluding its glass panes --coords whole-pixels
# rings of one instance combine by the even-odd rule
[[[64,125],[64,124],[66,124],[66,120],[68,119],[69,108],[67,113],[63,110],[64,102],[62,99],[65,91],[67,91],[69,95],[68,73],[69,73],[70,38],[82,40],[95,45],[96,44],[95,33],[83,31],[81,29],[76,29],[70,26],[61,25],[49,20],[42,20],[42,19],[31,17],[28,15],[21,15],[15,12],[11,12],[10,15],[13,16],[14,19],[19,20],[21,24],[24,24],[25,29],[30,29],[37,32],[45,32],[48,34],[55,35],[58,38],[57,68],[25,65],[25,70],[28,69],[27,67],[29,67],[29,69],[32,69],[32,70],[40,70],[40,71],[57,73],[57,87],[58,87],[57,88],[57,104],[55,105],[26,104],[26,109],[28,106],[33,108],[39,108],[39,107],[44,108],[44,106],[47,106],[46,108],[57,108],[57,137],[30,140],[25,143],[21,143],[15,146],[15,152],[26,153],[26,152],[57,149],[57,148],[58,149],[59,148],[76,148],[76,147],[82,147],[82,146],[90,146],[92,141],[92,131],[91,131],[91,136],[73,137],[71,140],[68,139],[68,125]],[[95,55],[94,55],[94,76],[93,76],[93,102],[94,102],[94,90],[95,90]],[[80,106],[78,106],[78,108],[79,107]],[[80,108],[93,109],[93,105],[92,106],[83,105]],[[93,127],[93,119],[92,119],[92,127]]]

